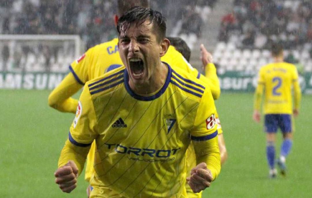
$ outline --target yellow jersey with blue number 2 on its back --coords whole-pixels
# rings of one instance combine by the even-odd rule
[[[264,114],[292,114],[292,88],[294,89],[294,106],[298,109],[301,91],[295,65],[280,62],[263,66],[259,71],[254,108],[260,109],[264,89]]]

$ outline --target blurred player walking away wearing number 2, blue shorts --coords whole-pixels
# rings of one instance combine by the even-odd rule
[[[292,115],[299,114],[301,91],[298,72],[295,65],[283,62],[283,48],[273,44],[271,49],[274,62],[263,66],[259,71],[258,86],[255,92],[253,119],[260,122],[260,104],[265,90],[263,112],[266,132],[266,156],[270,167],[269,176],[276,176],[275,169],[275,137],[277,129],[283,133],[283,143],[277,165],[282,175],[286,174],[286,156],[292,146],[293,122]],[[294,106],[292,102],[294,90]]]

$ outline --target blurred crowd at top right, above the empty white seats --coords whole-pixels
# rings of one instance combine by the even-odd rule
[[[312,41],[312,1],[234,0],[223,16],[219,41],[243,48],[268,48],[272,41],[295,48]]]

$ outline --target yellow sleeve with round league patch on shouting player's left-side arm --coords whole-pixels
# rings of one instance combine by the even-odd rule
[[[61,151],[58,167],[73,160],[81,173],[92,141],[97,137],[95,130],[96,116],[92,98],[87,86],[80,95],[76,116],[71,125],[68,139]]]

